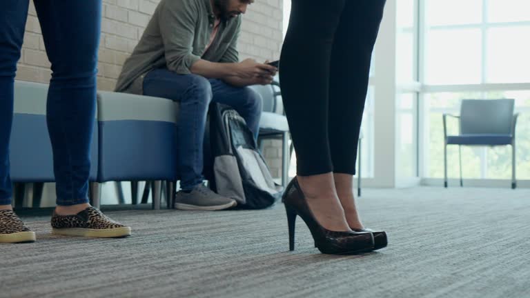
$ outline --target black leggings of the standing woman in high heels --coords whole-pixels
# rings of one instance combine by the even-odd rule
[[[297,174],[355,174],[385,0],[292,0],[279,79]]]

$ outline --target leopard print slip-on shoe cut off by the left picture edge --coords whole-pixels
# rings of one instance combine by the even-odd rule
[[[12,210],[0,210],[0,243],[35,242],[32,232]]]

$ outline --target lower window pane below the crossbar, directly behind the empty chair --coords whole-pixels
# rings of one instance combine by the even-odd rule
[[[530,91],[491,91],[491,92],[436,92],[424,97],[429,107],[429,159],[426,167],[428,177],[444,176],[444,148],[442,114],[458,115],[461,99],[516,99],[516,112],[520,113],[516,130],[516,156],[518,179],[530,179]],[[448,119],[448,134],[458,134],[458,121]],[[449,146],[447,151],[449,177],[458,177],[458,146]],[[511,178],[510,147],[462,147],[463,175],[466,178]]]

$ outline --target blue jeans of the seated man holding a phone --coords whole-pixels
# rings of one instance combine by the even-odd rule
[[[180,103],[177,166],[183,190],[191,190],[204,180],[203,141],[210,102],[224,103],[237,110],[257,138],[262,97],[251,88],[237,88],[222,80],[206,79],[197,74],[176,74],[157,69],[144,78],[144,95]]]

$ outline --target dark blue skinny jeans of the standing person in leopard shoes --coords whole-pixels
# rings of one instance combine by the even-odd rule
[[[46,119],[53,149],[57,205],[87,203],[101,0],[34,3],[52,63]],[[13,85],[28,5],[28,0],[3,0],[0,9],[0,205],[12,200],[8,150]]]

